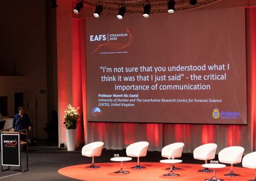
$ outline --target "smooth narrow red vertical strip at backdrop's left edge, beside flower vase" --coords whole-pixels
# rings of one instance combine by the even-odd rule
[[[72,46],[71,19],[72,2],[61,1],[61,8],[56,8],[57,59],[58,59],[58,117],[59,141],[66,142],[63,116],[66,106],[72,103]]]

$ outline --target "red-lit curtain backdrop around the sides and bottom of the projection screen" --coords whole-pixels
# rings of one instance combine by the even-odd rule
[[[86,19],[72,18],[72,4],[60,3],[57,11],[60,143],[66,142],[62,117],[65,106],[71,103],[83,113],[77,127],[77,145],[104,141],[108,149],[123,149],[135,141],[147,140],[148,149],[157,151],[178,141],[185,143],[184,152],[193,152],[195,147],[212,142],[218,144],[218,151],[231,145],[241,145],[247,153],[255,150],[256,8],[246,9],[248,125],[132,124],[86,122]]]

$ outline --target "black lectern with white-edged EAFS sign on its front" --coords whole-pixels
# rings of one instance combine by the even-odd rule
[[[19,132],[1,131],[1,171],[10,170],[10,166],[19,166],[19,170],[28,171],[28,141],[21,141],[20,136],[26,136],[28,140],[28,129]],[[26,147],[27,168],[22,170],[20,146]],[[3,169],[3,167],[8,167]]]

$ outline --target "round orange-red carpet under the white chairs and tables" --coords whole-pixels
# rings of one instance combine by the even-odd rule
[[[128,180],[202,180],[212,177],[212,173],[200,173],[197,170],[203,169],[200,164],[184,164],[178,163],[175,166],[181,168],[182,170],[175,170],[174,173],[180,174],[178,177],[164,177],[165,173],[168,173],[168,164],[164,163],[141,163],[141,166],[146,166],[147,168],[143,170],[133,170],[131,167],[135,166],[136,163],[124,162],[123,167],[125,171],[130,171],[127,174],[116,174],[114,171],[120,170],[120,163],[96,163],[100,168],[88,169],[85,168],[90,164],[79,164],[74,166],[67,166],[58,170],[58,173],[65,175],[67,177],[76,178],[79,180],[86,181],[104,181],[104,180],[118,180],[118,181],[128,181]],[[230,172],[230,165],[226,168],[216,169],[216,177],[224,180],[250,180],[254,177],[254,170],[249,168],[239,168],[234,167],[234,173],[239,173],[239,177],[225,177],[223,174]]]

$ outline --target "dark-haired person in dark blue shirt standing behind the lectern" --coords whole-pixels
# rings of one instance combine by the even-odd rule
[[[24,108],[20,106],[18,108],[19,113],[15,114],[13,117],[12,128],[13,131],[20,131],[21,129],[28,129],[31,130],[31,122],[29,119],[28,114],[24,113]],[[27,133],[28,134],[28,133]],[[26,140],[26,134],[20,134],[21,141],[28,141]],[[22,145],[23,152],[26,152],[26,145]]]

